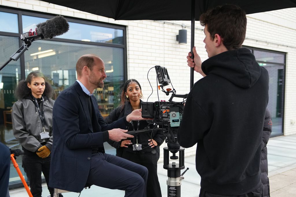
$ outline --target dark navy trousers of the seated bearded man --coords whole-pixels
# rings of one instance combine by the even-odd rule
[[[125,197],[146,197],[148,170],[118,156],[95,153],[87,183],[109,189],[125,190]]]

